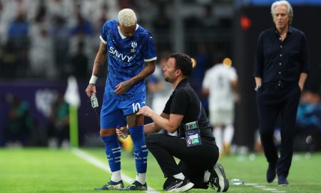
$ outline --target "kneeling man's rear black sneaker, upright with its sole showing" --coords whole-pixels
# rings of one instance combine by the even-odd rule
[[[228,191],[228,179],[225,176],[223,166],[220,163],[216,163],[212,169],[210,169],[210,187],[218,188],[218,192]]]

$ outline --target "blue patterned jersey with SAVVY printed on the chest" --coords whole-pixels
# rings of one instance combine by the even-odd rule
[[[151,34],[137,25],[135,34],[128,38],[121,34],[117,20],[109,20],[101,30],[101,41],[107,46],[108,75],[105,91],[113,99],[140,99],[146,95],[144,80],[133,84],[125,94],[115,94],[113,91],[121,81],[136,76],[145,68],[144,61],[157,59],[156,49]]]

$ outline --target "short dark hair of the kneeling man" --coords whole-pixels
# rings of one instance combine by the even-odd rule
[[[180,69],[180,71],[182,71],[182,74],[186,77],[190,76],[193,69],[193,62],[188,54],[173,53],[170,54],[169,57],[175,59],[175,69]]]

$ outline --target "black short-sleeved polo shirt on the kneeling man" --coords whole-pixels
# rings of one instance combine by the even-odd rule
[[[190,86],[187,79],[183,79],[178,83],[176,89],[170,95],[163,112],[165,114],[183,114],[182,124],[197,121],[198,114],[200,113],[200,119],[198,120],[200,137],[214,139],[208,117],[205,114],[204,108],[200,107],[201,104],[198,95]],[[182,124],[180,124],[180,128],[177,129],[177,132],[178,136],[185,137],[185,130],[183,129]]]

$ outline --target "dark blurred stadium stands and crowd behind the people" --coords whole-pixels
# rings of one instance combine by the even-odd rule
[[[96,112],[86,97],[101,27],[131,8],[138,24],[151,31],[158,54],[185,52],[196,60],[190,82],[200,93],[206,69],[221,56],[238,71],[241,103],[235,119],[235,152],[260,151],[253,61],[258,34],[273,26],[270,0],[1,0],[0,1],[0,147],[68,147],[68,104],[63,102],[68,76],[76,76],[81,106],[81,147],[102,146]],[[293,26],[305,31],[310,75],[305,100],[317,111],[303,117],[296,151],[321,150],[321,18],[320,0],[289,0]],[[106,73],[98,79],[102,102]],[[153,95],[149,93],[151,97]],[[309,106],[309,107],[310,107]],[[97,110],[99,115],[100,107]],[[54,112],[54,113],[53,113]],[[310,117],[313,117],[312,121]],[[308,120],[307,120],[308,119]],[[310,122],[309,122],[310,121]],[[308,123],[312,122],[312,127]],[[305,127],[306,126],[306,127]],[[65,137],[65,138],[63,138]]]

